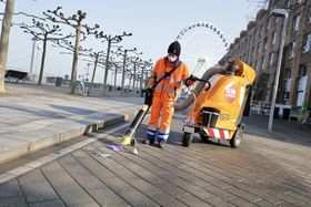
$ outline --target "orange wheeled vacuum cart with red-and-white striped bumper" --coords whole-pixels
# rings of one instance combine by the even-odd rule
[[[203,142],[227,139],[238,147],[243,136],[242,113],[255,71],[241,60],[233,60],[223,73],[217,73],[194,97],[184,121],[182,145],[190,146],[192,134]]]

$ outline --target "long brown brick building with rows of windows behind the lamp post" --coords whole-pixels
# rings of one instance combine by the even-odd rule
[[[253,100],[270,103],[284,23],[284,18],[270,14],[277,8],[289,14],[277,103],[311,105],[311,0],[270,0],[268,10],[260,10],[235,38],[228,55],[255,69]]]

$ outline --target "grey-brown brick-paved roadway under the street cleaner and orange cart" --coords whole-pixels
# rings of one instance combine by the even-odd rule
[[[239,148],[199,136],[187,148],[183,118],[174,115],[164,149],[140,144],[147,118],[138,155],[109,148],[128,126],[116,123],[2,164],[12,177],[0,184],[0,206],[311,206],[309,128],[275,120],[271,135],[268,117],[254,115]]]

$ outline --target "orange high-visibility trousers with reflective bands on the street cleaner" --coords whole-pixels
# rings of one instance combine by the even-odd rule
[[[154,139],[158,133],[158,142],[167,142],[170,135],[173,113],[173,102],[168,102],[164,99],[153,96],[147,138]],[[160,127],[158,127],[161,115]]]

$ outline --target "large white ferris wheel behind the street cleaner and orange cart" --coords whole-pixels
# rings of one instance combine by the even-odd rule
[[[195,22],[177,37],[182,46],[181,60],[190,73],[201,76],[225,55],[229,43],[224,33],[210,22]]]

